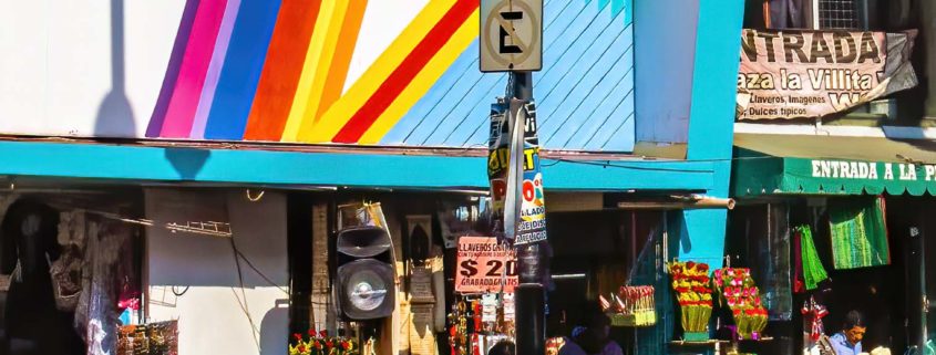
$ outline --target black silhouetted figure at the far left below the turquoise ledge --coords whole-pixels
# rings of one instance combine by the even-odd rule
[[[22,199],[0,225],[0,272],[12,274],[3,320],[10,354],[68,354],[65,344],[81,342],[52,293],[49,262],[59,258],[58,228],[58,211]]]

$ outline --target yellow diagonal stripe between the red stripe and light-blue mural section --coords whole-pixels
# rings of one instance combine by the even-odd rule
[[[445,45],[439,50],[439,53],[425,64],[422,71],[416,74],[413,82],[400,93],[400,96],[387,107],[387,111],[380,115],[373,125],[368,128],[361,139],[360,144],[378,144],[383,136],[393,128],[400,118],[407,114],[408,111],[420,100],[426,92],[435,84],[439,77],[455,62],[465,49],[477,38],[479,27],[479,10],[475,10],[471,17],[467,18],[457,31],[445,42]]]

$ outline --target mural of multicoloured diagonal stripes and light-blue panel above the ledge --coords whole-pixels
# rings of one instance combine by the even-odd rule
[[[470,140],[479,139],[470,136],[464,142],[425,139],[413,143],[412,132],[401,129],[407,129],[404,126],[412,129],[438,126],[425,115],[439,105],[426,100],[452,104],[451,100],[444,100],[445,95],[477,96],[472,109],[455,119],[461,125],[470,117],[469,125],[474,130],[475,123],[486,123],[485,106],[503,92],[504,75],[477,73],[479,0],[423,0],[411,10],[410,19],[389,19],[407,22],[391,33],[393,38],[385,48],[372,58],[366,58],[361,54],[370,50],[370,44],[362,40],[370,35],[362,33],[362,29],[370,25],[366,23],[366,13],[371,20],[379,15],[373,12],[378,1],[384,0],[189,0],[146,137],[434,146],[476,144]],[[408,6],[407,1],[391,3]],[[630,108],[616,109],[628,100],[623,93],[608,93],[603,102],[614,96],[608,105],[615,109],[609,109],[607,115],[620,116],[619,124],[609,132],[619,132],[627,126],[628,119],[632,126],[629,7],[624,0],[547,0],[545,7],[547,13],[568,12],[568,19],[547,20],[548,23],[544,23],[547,32],[551,31],[548,27],[555,24],[552,31],[578,31],[575,33],[588,36],[585,39],[590,43],[597,41],[605,46],[594,49],[595,54],[580,55],[579,61],[590,58],[593,66],[603,60],[610,61],[611,65],[620,63],[615,66],[619,75],[611,75],[615,85],[606,84],[606,88],[627,92],[631,98],[625,106]],[[596,19],[604,24],[592,29]],[[564,21],[565,25],[557,28]],[[370,27],[371,31],[373,27]],[[604,36],[608,39],[599,41]],[[621,36],[626,40],[618,40]],[[552,48],[564,54],[577,41],[570,40],[566,44],[554,43]],[[606,59],[610,45],[620,46],[619,53]],[[544,58],[549,59],[549,49],[546,51]],[[473,65],[470,64],[472,59]],[[352,74],[354,65],[360,70]],[[611,65],[604,69],[610,70]],[[580,77],[566,76],[557,76],[551,87],[567,82],[580,85]],[[477,80],[474,84],[457,84],[466,77]],[[482,80],[490,84],[485,83],[485,90],[479,91],[476,84]],[[596,76],[592,86],[603,81],[605,79]],[[448,84],[440,86],[442,83]],[[620,83],[626,87],[618,87]],[[477,107],[480,112],[475,109]],[[425,115],[412,122],[411,116],[419,112]],[[632,140],[632,127],[627,129],[630,129]],[[590,133],[590,136],[600,134]],[[483,137],[477,138],[484,142]],[[584,143],[578,146],[584,148]],[[599,145],[596,150],[601,147]]]

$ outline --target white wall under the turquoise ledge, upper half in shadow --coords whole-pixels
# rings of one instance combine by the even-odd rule
[[[156,223],[229,218],[238,250],[287,289],[286,197],[267,191],[254,202],[243,189],[204,191],[147,189],[146,217]],[[287,353],[288,295],[241,261],[246,306],[258,331],[254,333],[238,301],[241,291],[229,239],[153,227],[147,230],[146,257],[150,320],[178,320],[181,355]],[[172,286],[177,292],[189,288],[175,296]]]

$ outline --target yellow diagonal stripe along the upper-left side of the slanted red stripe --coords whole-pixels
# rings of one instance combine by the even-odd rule
[[[452,8],[455,0],[431,0],[403,29],[392,43],[378,56],[367,71],[315,123],[311,129],[302,128],[298,140],[305,143],[331,142],[351,116],[377,92],[400,63]],[[288,127],[287,127],[288,128]],[[284,140],[288,137],[284,134]]]

